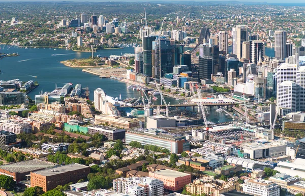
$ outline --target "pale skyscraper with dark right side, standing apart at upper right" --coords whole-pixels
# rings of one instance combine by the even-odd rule
[[[286,58],[286,41],[286,31],[275,31],[275,57],[279,60]]]

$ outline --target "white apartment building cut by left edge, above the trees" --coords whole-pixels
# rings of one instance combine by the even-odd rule
[[[7,120],[0,122],[0,130],[9,131],[15,134],[32,133],[33,126],[27,122]]]

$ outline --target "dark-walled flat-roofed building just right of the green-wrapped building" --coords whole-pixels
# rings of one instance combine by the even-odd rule
[[[94,135],[100,133],[105,135],[109,140],[125,139],[125,129],[106,127],[102,125],[88,126],[88,133]]]

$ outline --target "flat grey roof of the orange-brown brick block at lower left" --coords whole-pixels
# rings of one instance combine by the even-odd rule
[[[85,169],[87,167],[88,166],[74,163],[74,164],[57,166],[53,169],[45,169],[45,170],[41,170],[41,171],[34,172],[34,173],[42,175],[42,176],[53,176],[53,175],[57,175],[57,174],[61,174],[61,173],[66,173],[66,172],[71,172],[71,171],[75,171],[75,170]]]

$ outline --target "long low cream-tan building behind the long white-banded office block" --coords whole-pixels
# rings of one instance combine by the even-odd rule
[[[140,127],[140,122],[136,119],[117,117],[117,116],[106,116],[106,115],[96,115],[95,123],[97,125],[108,123],[110,126],[122,128],[122,129],[132,129]]]

